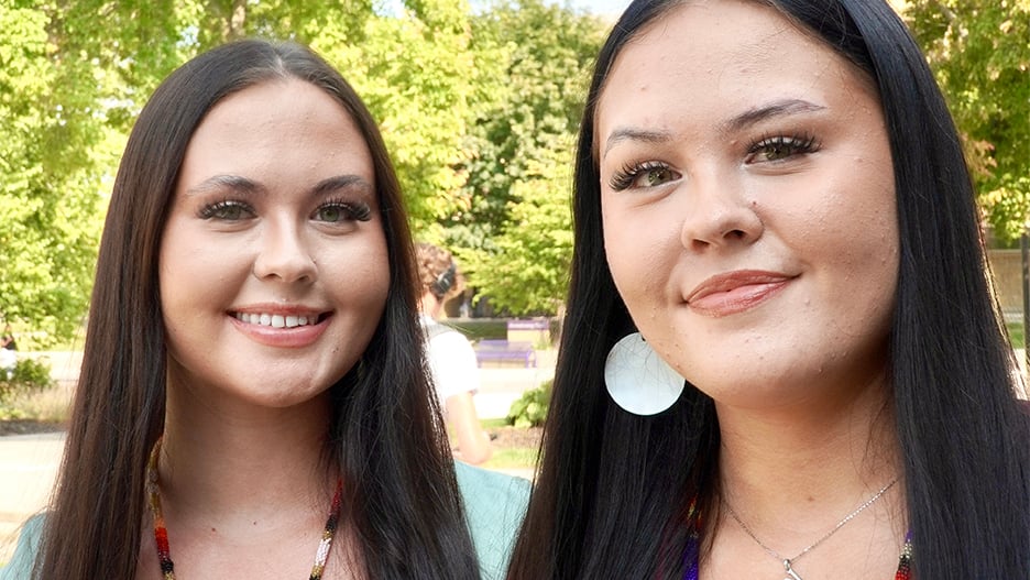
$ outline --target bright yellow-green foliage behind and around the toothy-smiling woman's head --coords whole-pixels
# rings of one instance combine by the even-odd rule
[[[241,36],[315,44],[370,102],[424,228],[452,212],[471,66],[464,0],[0,0],[0,313],[67,338],[135,116],[182,62]],[[346,66],[344,66],[346,65]],[[45,342],[45,340],[44,340]]]

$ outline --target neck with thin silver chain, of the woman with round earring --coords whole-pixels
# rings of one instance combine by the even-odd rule
[[[897,571],[908,524],[890,385],[886,372],[862,381],[854,380],[859,373],[851,376],[836,374],[804,389],[777,385],[804,395],[785,402],[764,395],[738,397],[745,404],[737,405],[716,402],[720,495],[712,499],[715,517],[703,521],[711,543],[702,555],[703,579],[782,574],[788,558],[807,580],[887,578]],[[763,386],[768,385],[756,391]],[[855,515],[841,525],[850,514]]]

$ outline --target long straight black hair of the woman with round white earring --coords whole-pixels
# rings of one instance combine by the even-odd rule
[[[755,1],[854,63],[879,92],[900,236],[891,404],[916,577],[1027,578],[1030,436],[1015,396],[1016,362],[988,281],[972,182],[933,76],[883,0]],[[509,579],[682,578],[688,502],[714,503],[719,426],[712,400],[688,384],[672,409],[636,417],[615,406],[603,384],[607,351],[634,326],[603,247],[598,100],[626,44],[682,3],[636,0],[598,58],[576,157],[565,333],[541,464]]]

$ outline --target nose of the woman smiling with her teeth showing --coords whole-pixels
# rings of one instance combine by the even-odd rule
[[[261,232],[254,276],[285,283],[309,283],[316,278],[315,256],[298,227],[270,221]]]

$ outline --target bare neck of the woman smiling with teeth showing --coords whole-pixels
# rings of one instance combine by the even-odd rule
[[[165,510],[230,524],[324,514],[337,480],[324,455],[326,397],[288,408],[206,405],[169,385],[157,467]]]

